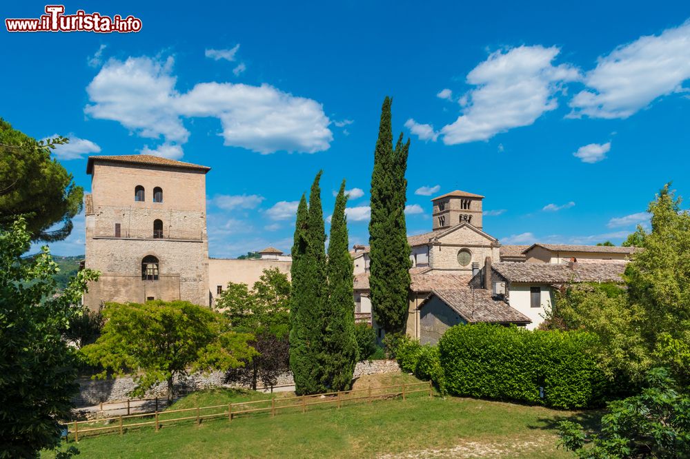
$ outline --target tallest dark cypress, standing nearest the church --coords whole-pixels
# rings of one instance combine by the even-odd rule
[[[403,144],[400,134],[393,148],[391,103],[386,96],[371,174],[369,285],[376,324],[386,332],[404,332],[408,316],[409,269],[412,267],[405,225],[405,172],[410,142]]]

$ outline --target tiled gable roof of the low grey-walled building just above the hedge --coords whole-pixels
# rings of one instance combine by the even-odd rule
[[[532,322],[529,317],[504,301],[493,298],[491,292],[486,289],[435,289],[417,309],[422,309],[433,296],[437,296],[469,323],[527,324]]]

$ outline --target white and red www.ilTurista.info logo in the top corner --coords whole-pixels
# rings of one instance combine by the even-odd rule
[[[38,19],[5,19],[8,32],[139,32],[141,19],[130,16],[123,18],[101,16],[101,13],[87,14],[77,10],[75,14],[64,14],[63,5],[46,5],[46,14]]]

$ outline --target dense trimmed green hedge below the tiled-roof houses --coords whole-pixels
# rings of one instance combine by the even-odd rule
[[[457,325],[439,352],[450,394],[571,409],[602,402],[606,380],[589,352],[596,344],[585,332]]]

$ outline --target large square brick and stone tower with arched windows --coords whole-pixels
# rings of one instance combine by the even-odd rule
[[[132,154],[90,156],[86,262],[101,277],[84,303],[188,300],[208,305],[206,172]]]

